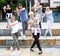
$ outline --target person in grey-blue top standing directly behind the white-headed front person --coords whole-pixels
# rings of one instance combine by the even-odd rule
[[[42,20],[42,5],[40,4],[39,1],[36,2],[37,4],[35,4],[33,7],[34,7],[34,10],[36,9],[37,13],[36,13],[36,17],[39,18],[40,20]],[[41,26],[41,21],[39,22],[39,26],[40,26],[40,29],[42,28]]]

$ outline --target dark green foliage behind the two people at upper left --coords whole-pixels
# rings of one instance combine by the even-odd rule
[[[17,0],[17,3],[14,4],[12,2],[13,0],[10,1],[10,5],[11,5],[11,8],[14,10],[17,6],[18,6],[18,3],[21,3],[24,7],[26,6],[26,0]],[[8,4],[5,0],[0,0],[0,10],[2,9],[3,6],[5,6],[6,4]]]

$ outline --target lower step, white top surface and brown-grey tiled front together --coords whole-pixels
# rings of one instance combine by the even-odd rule
[[[34,39],[31,36],[26,36],[25,39],[23,39],[22,37],[19,36],[18,38],[19,40],[19,45],[20,46],[31,46]],[[60,36],[41,36],[39,38],[41,46],[60,46]],[[0,36],[0,45],[4,45],[4,46],[11,46],[13,43],[13,38],[12,36]]]

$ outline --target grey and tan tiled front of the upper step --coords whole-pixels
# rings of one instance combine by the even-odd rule
[[[41,29],[41,36],[44,36],[46,29]],[[19,30],[19,36],[21,35],[20,33],[22,32],[22,30]],[[27,29],[25,32],[25,35],[27,36],[31,36],[31,29]],[[47,36],[49,36],[50,34],[47,33]],[[53,36],[60,36],[60,29],[52,29],[52,35]],[[0,29],[0,36],[11,36],[11,30],[8,29]]]

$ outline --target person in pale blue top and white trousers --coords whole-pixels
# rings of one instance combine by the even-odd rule
[[[51,37],[52,37],[52,23],[53,23],[53,15],[52,15],[52,10],[50,10],[50,7],[46,7],[46,11],[45,11],[45,16],[47,18],[47,25],[48,25],[48,28],[45,32],[45,36],[47,35],[47,33],[49,32]]]

